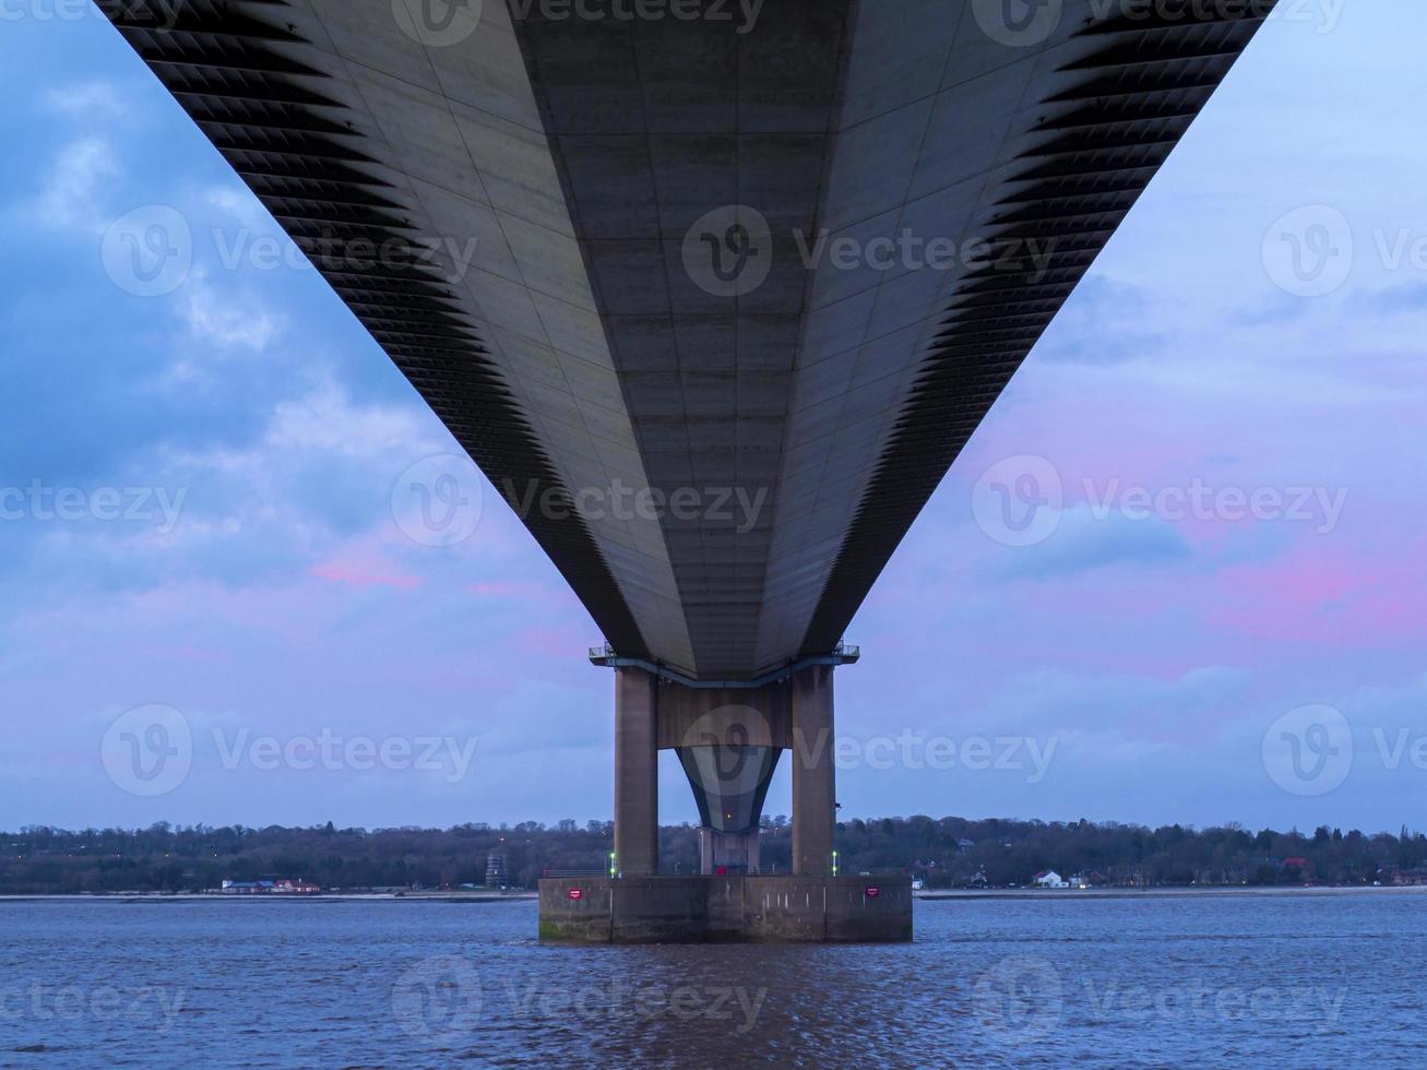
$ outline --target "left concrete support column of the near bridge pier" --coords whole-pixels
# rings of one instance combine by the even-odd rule
[[[659,872],[658,681],[615,669],[615,866],[628,877]]]

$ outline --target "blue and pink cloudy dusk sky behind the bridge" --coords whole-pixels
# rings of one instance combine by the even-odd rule
[[[1283,7],[848,629],[845,816],[1427,826],[1427,9]],[[608,819],[595,623],[474,469],[408,535],[454,441],[60,11],[0,24],[0,827]]]

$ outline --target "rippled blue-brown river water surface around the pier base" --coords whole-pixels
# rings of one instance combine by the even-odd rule
[[[541,947],[535,905],[0,903],[0,1066],[1420,1066],[1427,896],[923,902],[886,947]]]

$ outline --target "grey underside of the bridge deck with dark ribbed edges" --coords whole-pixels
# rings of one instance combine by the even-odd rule
[[[739,681],[838,642],[1271,4],[101,7],[614,649]]]

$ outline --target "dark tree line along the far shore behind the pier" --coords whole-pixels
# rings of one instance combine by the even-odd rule
[[[325,889],[484,886],[487,859],[505,857],[507,883],[534,887],[547,873],[602,873],[614,826],[562,820],[451,829],[250,829],[205,825],[67,832],[30,826],[0,833],[0,895],[203,892],[223,880],[304,877]],[[1012,887],[1043,870],[1106,886],[1371,885],[1416,882],[1427,836],[1250,832],[1237,825],[1150,829],[1113,822],[1040,822],[926,816],[839,822],[843,873],[906,872],[928,887]],[[698,870],[698,830],[659,830],[661,869]],[[763,872],[786,873],[785,816],[763,819]]]

